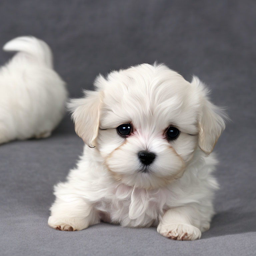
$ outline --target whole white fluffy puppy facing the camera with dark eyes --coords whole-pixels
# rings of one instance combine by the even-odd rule
[[[87,144],[67,181],[55,186],[48,224],[81,230],[101,220],[158,226],[163,236],[194,240],[209,229],[218,188],[209,155],[225,124],[197,77],[142,64],[95,81],[71,100]]]

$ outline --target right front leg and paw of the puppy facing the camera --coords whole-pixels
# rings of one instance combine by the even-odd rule
[[[169,209],[160,218],[157,232],[173,240],[200,239],[200,214],[190,206]]]

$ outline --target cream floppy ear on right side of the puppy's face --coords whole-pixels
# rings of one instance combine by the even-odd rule
[[[198,146],[206,155],[209,155],[225,129],[223,118],[227,116],[221,108],[208,100],[209,90],[198,77],[193,76],[191,84],[198,90],[200,101]]]

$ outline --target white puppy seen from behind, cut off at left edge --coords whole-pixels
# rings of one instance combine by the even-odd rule
[[[0,68],[0,144],[50,136],[64,115],[67,90],[49,46],[24,36],[3,49],[18,53]]]

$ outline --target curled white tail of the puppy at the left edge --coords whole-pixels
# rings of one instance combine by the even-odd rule
[[[17,56],[26,55],[35,58],[47,67],[53,67],[53,58],[50,47],[42,40],[33,36],[21,36],[12,39],[3,46],[4,51],[17,51]]]

